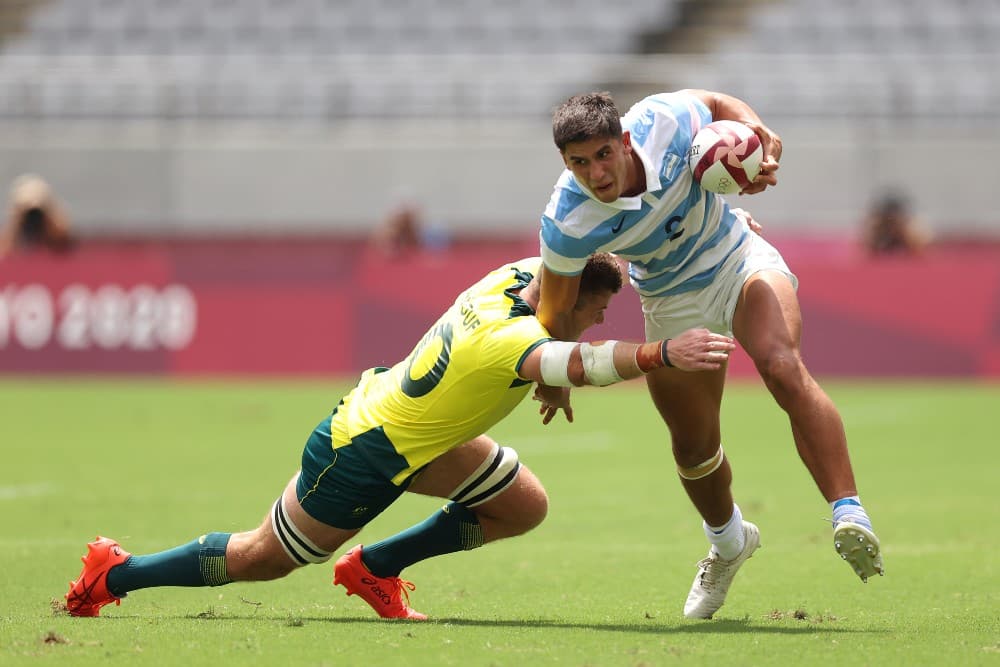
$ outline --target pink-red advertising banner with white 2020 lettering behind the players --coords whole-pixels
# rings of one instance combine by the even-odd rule
[[[1000,248],[916,259],[782,249],[822,376],[1000,377]],[[353,374],[405,356],[533,240],[388,258],[358,240],[92,241],[0,261],[0,373]],[[623,290],[596,338],[642,338]],[[753,374],[739,352],[732,375]]]

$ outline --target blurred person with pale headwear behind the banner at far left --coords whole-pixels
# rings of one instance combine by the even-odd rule
[[[40,176],[18,176],[10,188],[7,220],[0,229],[0,258],[18,248],[64,251],[74,244],[69,218]]]

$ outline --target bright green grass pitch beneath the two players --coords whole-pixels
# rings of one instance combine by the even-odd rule
[[[344,388],[243,385],[0,380],[0,664],[1000,665],[997,384],[827,383],[884,547],[867,585],[833,551],[784,415],[734,384],[724,442],[763,548],[715,620],[682,618],[707,544],[639,383],[577,391],[572,425],[543,428],[526,402],[494,430],[549,518],[407,570],[432,622],[378,620],[330,565],[54,612],[98,533],[147,553],[256,526]],[[404,496],[361,537],[438,505]]]

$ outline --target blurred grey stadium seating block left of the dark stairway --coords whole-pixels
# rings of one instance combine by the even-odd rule
[[[545,115],[675,2],[57,0],[0,50],[13,117]],[[555,96],[555,97],[554,97]]]

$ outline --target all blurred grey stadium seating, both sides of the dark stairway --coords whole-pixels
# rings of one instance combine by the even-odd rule
[[[681,0],[10,4],[0,117],[543,117],[605,84],[727,90],[769,117],[982,118],[1000,103],[995,0],[759,2],[697,61],[635,53],[684,29]]]

